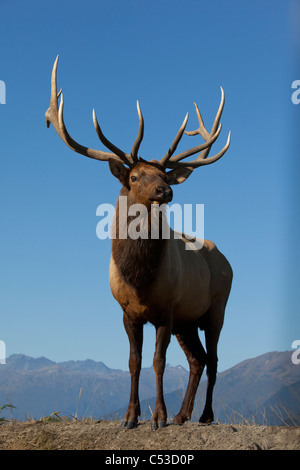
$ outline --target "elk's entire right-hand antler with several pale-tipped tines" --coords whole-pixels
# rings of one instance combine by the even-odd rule
[[[164,166],[165,168],[172,168],[172,169],[178,168],[180,166],[189,167],[189,168],[198,168],[201,165],[209,165],[210,163],[213,163],[213,162],[216,162],[217,160],[219,160],[219,158],[221,158],[224,155],[224,153],[227,151],[227,149],[230,145],[230,132],[228,134],[228,139],[227,139],[226,145],[223,147],[223,149],[220,150],[220,152],[218,152],[213,157],[207,158],[207,156],[210,152],[212,144],[218,138],[218,136],[221,132],[222,124],[219,125],[219,122],[220,122],[222,111],[223,111],[223,108],[224,108],[224,103],[225,103],[225,96],[224,96],[223,88],[221,87],[221,102],[220,102],[220,106],[219,106],[218,112],[216,114],[215,121],[213,123],[213,126],[212,126],[212,129],[211,129],[210,133],[205,129],[204,124],[203,124],[203,120],[202,120],[202,116],[201,116],[200,111],[199,111],[199,108],[198,108],[197,104],[194,103],[195,107],[196,107],[197,116],[198,116],[199,128],[196,129],[195,131],[190,131],[190,132],[185,131],[185,127],[186,127],[186,124],[187,124],[187,118],[188,118],[188,114],[187,114],[186,117],[185,117],[185,120],[183,121],[183,124],[182,124],[181,128],[179,129],[179,132],[178,132],[177,136],[175,137],[175,140],[174,140],[173,144],[171,145],[170,149],[163,156],[163,158],[160,160],[159,163],[162,166]],[[178,155],[174,155],[172,157],[172,155],[173,155],[174,151],[176,150],[176,147],[177,147],[177,145],[178,145],[178,143],[179,143],[179,141],[180,141],[180,139],[183,135],[183,132],[187,135],[200,134],[203,137],[203,139],[205,140],[205,143],[199,145],[198,147],[193,147],[190,150],[179,153]],[[201,153],[195,160],[192,160],[190,162],[181,162],[181,160],[183,160],[183,159],[185,159],[185,158],[187,158],[191,155],[194,155],[195,153],[198,153],[198,152],[201,152]]]

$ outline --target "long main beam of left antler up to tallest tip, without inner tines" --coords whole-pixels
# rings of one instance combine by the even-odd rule
[[[64,123],[64,118],[63,118],[64,99],[63,99],[62,90],[60,90],[59,93],[57,93],[58,58],[59,56],[57,56],[55,59],[53,69],[52,69],[52,75],[51,75],[50,107],[47,109],[45,113],[47,127],[49,127],[51,123],[54,129],[56,130],[57,134],[65,142],[65,144],[67,144],[68,147],[70,147],[70,149],[74,150],[77,153],[80,153],[81,155],[84,155],[89,158],[93,158],[95,160],[100,160],[100,161],[108,161],[109,158],[113,158],[115,160],[122,161],[123,163],[130,165],[129,160],[127,160],[127,158],[126,159],[123,158],[123,155],[121,156],[121,154],[118,155],[115,153],[102,152],[101,150],[91,149],[91,148],[88,148],[79,144],[74,139],[72,139]],[[61,100],[58,106],[59,96],[61,97]]]

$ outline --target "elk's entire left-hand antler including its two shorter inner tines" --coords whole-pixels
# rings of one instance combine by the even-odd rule
[[[50,123],[52,123],[59,137],[68,145],[68,147],[70,147],[75,152],[80,153],[81,155],[85,155],[86,157],[94,158],[96,160],[101,160],[101,161],[108,161],[110,158],[113,158],[115,160],[125,163],[129,167],[132,167],[134,163],[137,161],[137,152],[138,152],[140,143],[143,138],[143,130],[144,130],[144,121],[143,121],[143,116],[139,107],[139,103],[137,105],[138,115],[139,115],[139,132],[133,144],[132,152],[130,155],[120,150],[118,147],[112,144],[103,135],[94,110],[93,110],[93,121],[94,121],[94,126],[98,134],[98,137],[101,140],[101,142],[113,153],[102,152],[101,150],[95,150],[95,149],[91,149],[83,145],[80,145],[74,139],[72,139],[64,123],[64,118],[63,118],[64,99],[63,99],[62,90],[60,90],[57,93],[57,84],[56,84],[57,64],[58,64],[58,56],[56,57],[56,60],[54,62],[52,75],[51,75],[50,107],[47,109],[45,113],[47,127],[49,127]],[[59,96],[60,96],[60,104],[58,106]]]

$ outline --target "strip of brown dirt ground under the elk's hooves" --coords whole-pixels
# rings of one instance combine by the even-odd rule
[[[6,422],[0,450],[300,450],[300,427],[185,423],[151,431],[150,422]]]

